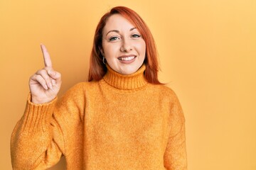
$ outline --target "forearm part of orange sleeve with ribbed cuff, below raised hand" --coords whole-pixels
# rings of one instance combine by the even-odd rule
[[[43,105],[30,100],[29,96],[25,113],[11,135],[13,169],[47,169],[62,155],[63,136],[52,118],[57,99]]]

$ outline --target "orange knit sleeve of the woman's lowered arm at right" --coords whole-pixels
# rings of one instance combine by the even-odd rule
[[[185,118],[178,98],[171,104],[169,140],[164,153],[164,166],[168,170],[186,170]]]

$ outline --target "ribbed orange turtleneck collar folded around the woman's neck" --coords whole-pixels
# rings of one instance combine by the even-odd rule
[[[103,79],[107,82],[107,84],[110,84],[117,89],[137,89],[147,83],[146,79],[144,78],[144,71],[146,69],[145,64],[142,64],[142,67],[140,67],[137,72],[129,75],[119,74],[118,72],[115,72],[109,65],[106,64],[106,66],[107,73]]]

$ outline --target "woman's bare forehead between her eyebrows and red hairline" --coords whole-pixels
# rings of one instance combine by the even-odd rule
[[[109,30],[130,30],[135,26],[130,23],[127,18],[124,18],[120,14],[113,14],[109,18],[107,18],[106,25],[103,28],[103,33]]]

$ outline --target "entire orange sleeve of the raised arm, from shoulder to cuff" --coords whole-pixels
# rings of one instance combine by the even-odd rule
[[[11,135],[13,169],[48,169],[64,155],[73,169],[82,164],[85,85],[77,84],[58,101],[33,104],[29,96],[25,113]],[[80,155],[80,157],[78,157]]]

